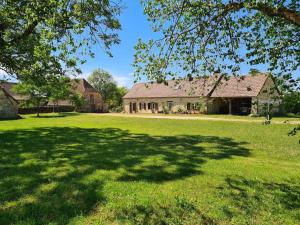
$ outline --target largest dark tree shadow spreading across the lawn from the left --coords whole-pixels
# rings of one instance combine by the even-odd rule
[[[249,156],[244,144],[114,128],[0,132],[0,224],[66,224],[105,203],[108,179],[161,183],[199,175],[208,160]]]

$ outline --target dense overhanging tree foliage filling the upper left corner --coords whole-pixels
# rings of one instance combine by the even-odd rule
[[[0,69],[19,80],[80,72],[80,54],[119,43],[120,10],[118,0],[2,0]]]

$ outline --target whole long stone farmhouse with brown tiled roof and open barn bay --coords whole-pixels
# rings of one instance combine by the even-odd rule
[[[213,75],[192,81],[138,83],[123,97],[126,113],[204,113],[261,115],[279,110],[280,94],[267,74],[225,77]]]

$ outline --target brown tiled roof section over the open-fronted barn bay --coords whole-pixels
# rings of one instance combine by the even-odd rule
[[[267,78],[266,74],[230,77],[228,80],[223,77],[211,97],[255,97]]]

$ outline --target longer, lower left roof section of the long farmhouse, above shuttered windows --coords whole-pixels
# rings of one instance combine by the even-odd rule
[[[201,97],[211,93],[220,76],[197,78],[193,81],[170,80],[164,83],[139,83],[123,98]]]

